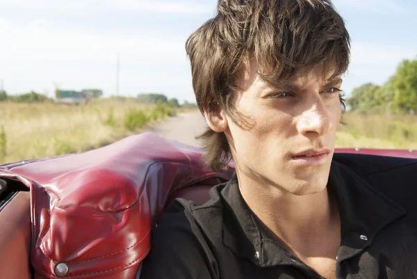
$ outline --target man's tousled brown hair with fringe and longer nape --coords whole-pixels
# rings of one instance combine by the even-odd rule
[[[332,78],[349,65],[350,37],[330,0],[219,0],[218,13],[186,42],[200,111],[224,109],[243,125],[233,102],[238,75],[255,58],[263,80],[275,84],[322,65]],[[344,102],[341,97],[341,106]],[[224,133],[199,136],[206,163],[222,170],[231,159]]]

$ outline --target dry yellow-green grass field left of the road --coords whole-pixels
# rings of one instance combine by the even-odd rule
[[[98,148],[172,113],[165,105],[120,101],[81,106],[0,102],[0,162]]]

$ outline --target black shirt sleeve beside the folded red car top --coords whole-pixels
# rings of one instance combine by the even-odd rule
[[[172,212],[173,207],[179,211]],[[142,263],[140,279],[218,278],[197,223],[181,207],[171,205],[171,211],[152,230],[151,250]]]

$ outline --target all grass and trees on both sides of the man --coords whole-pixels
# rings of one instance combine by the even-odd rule
[[[58,90],[56,98],[74,91]],[[65,94],[64,94],[65,93]],[[56,104],[40,93],[0,91],[0,163],[82,152],[137,134],[147,125],[179,111],[196,109],[163,94],[101,98],[83,90],[85,104]],[[352,90],[336,146],[417,150],[417,60],[404,60],[381,86]]]

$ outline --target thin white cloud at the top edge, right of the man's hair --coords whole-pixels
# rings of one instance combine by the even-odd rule
[[[334,0],[334,5],[336,8],[353,8],[383,15],[389,13],[409,13],[404,6],[401,6],[398,1],[394,0]]]

